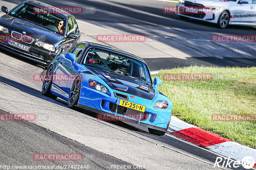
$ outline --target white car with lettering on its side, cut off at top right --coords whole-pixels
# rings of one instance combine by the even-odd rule
[[[182,19],[199,19],[223,29],[228,25],[256,26],[256,0],[179,0],[177,9]]]

